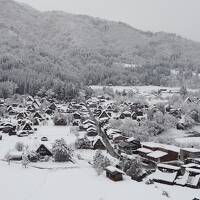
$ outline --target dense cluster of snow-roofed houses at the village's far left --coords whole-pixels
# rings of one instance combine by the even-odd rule
[[[19,137],[34,133],[33,126],[49,120],[56,110],[54,101],[31,96],[24,97],[21,101],[1,100],[0,107],[4,109],[0,118],[0,131]]]

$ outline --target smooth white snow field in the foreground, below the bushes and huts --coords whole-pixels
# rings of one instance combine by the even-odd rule
[[[0,161],[0,194],[4,200],[191,200],[200,197],[199,190],[167,186],[145,185],[125,177],[113,182],[105,174],[97,176],[89,164],[80,168],[45,170]],[[163,191],[169,198],[162,195]]]

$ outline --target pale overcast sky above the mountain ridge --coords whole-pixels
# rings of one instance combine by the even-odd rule
[[[63,10],[122,21],[135,28],[177,33],[200,41],[200,0],[16,0],[41,10]]]

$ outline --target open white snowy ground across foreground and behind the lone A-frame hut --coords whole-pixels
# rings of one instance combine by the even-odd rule
[[[0,141],[0,158],[3,158],[9,149],[14,148],[17,141],[31,146],[40,143],[43,136],[48,137],[47,143],[64,138],[68,144],[72,144],[76,139],[75,134],[70,132],[70,127],[57,127],[50,124],[37,128],[35,134],[23,138],[3,134],[3,140]],[[95,170],[88,164],[95,151],[77,150],[75,154],[80,154],[84,160],[76,158],[77,163],[74,165],[50,161],[32,163],[25,169],[20,162],[11,162],[8,165],[0,161],[0,197],[3,200],[132,200],[135,198],[191,200],[194,197],[200,198],[199,190],[180,186],[157,183],[146,185],[144,182],[135,182],[129,177],[124,177],[124,181],[121,182],[113,182],[106,178],[105,173],[97,176]],[[162,195],[163,191],[169,194],[169,198]]]

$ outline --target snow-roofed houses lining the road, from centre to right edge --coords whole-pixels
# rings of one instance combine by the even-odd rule
[[[140,122],[142,117],[146,117],[148,106],[141,104],[123,104],[121,106],[128,108],[128,110],[117,112],[115,104],[111,102],[102,106],[102,102],[106,102],[106,100],[103,97],[99,97],[98,100],[88,100],[87,105],[98,120],[101,125],[100,128],[104,131],[111,145],[121,157],[125,156],[128,159],[140,157],[147,169],[153,167],[155,170],[152,174],[155,181],[193,188],[200,187],[200,149],[179,148],[173,145],[154,142],[140,142],[133,137],[125,137],[120,130],[108,128],[109,119],[132,118]],[[110,101],[107,100],[107,102]],[[177,118],[181,118],[181,111],[179,109],[166,107],[166,111]],[[97,141],[96,138],[98,138],[98,145],[94,149],[106,148],[103,140],[98,135],[99,127],[97,127],[94,120],[89,118],[81,121],[80,117],[77,125],[79,126],[79,130],[86,131],[86,136],[80,138],[80,141],[82,140],[83,142],[82,144],[89,144],[91,141]],[[90,147],[83,145],[80,148],[92,148],[92,145]],[[106,174],[108,178],[118,181],[122,180],[123,172],[116,167],[108,167]],[[182,182],[180,184],[182,180],[185,182],[183,181],[184,183]]]

